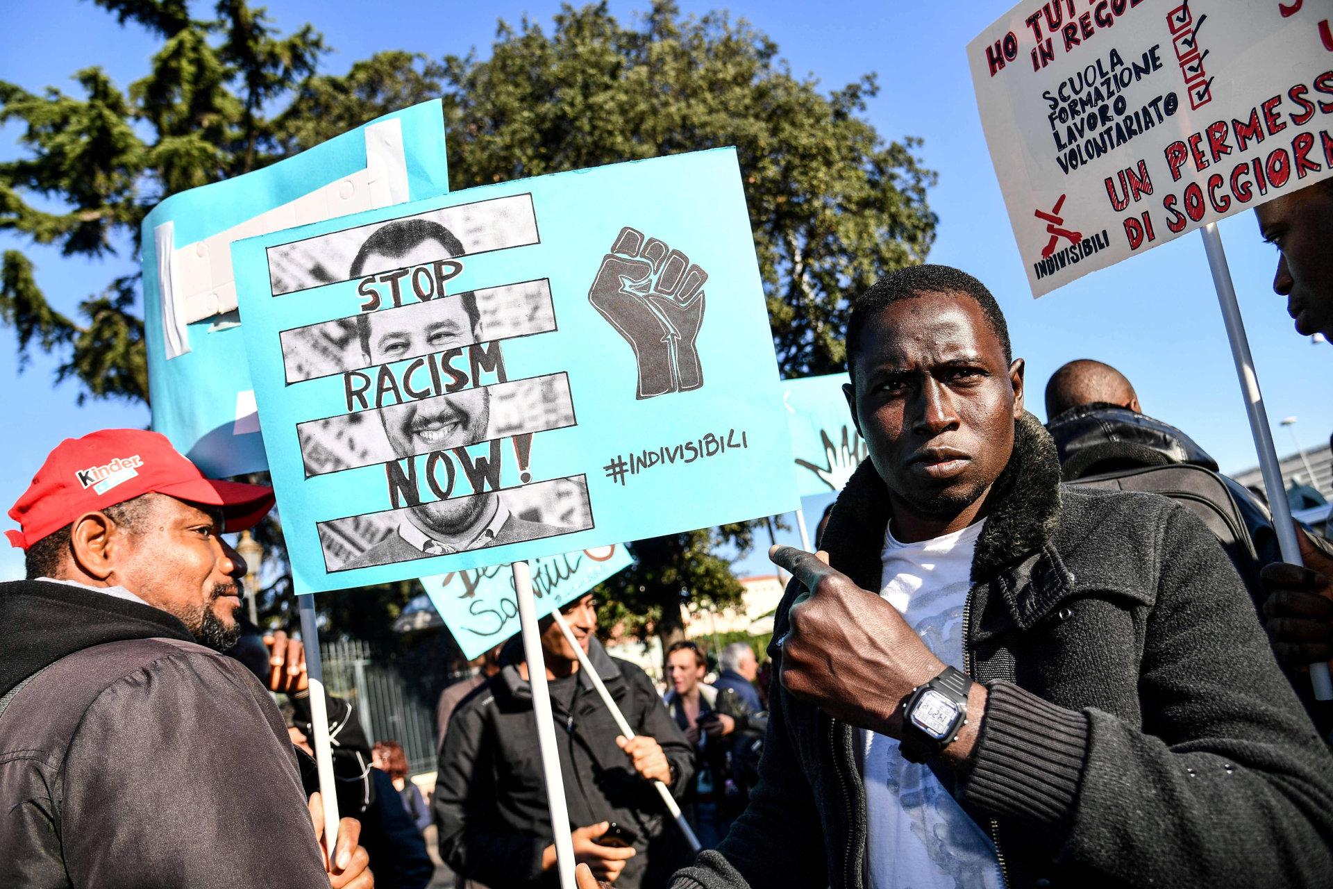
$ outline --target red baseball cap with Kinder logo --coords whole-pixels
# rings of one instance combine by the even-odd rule
[[[21,549],[79,516],[159,493],[221,506],[225,530],[244,530],[273,508],[273,489],[205,478],[167,436],[143,429],[103,429],[61,441],[9,510],[23,530],[7,530]]]

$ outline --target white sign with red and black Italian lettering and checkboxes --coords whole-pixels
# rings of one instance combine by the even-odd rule
[[[968,45],[1033,296],[1333,175],[1314,0],[1024,0]]]

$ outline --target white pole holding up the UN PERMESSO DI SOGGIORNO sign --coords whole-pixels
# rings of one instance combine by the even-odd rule
[[[1277,532],[1282,561],[1301,565],[1304,562],[1296,540],[1296,528],[1292,525],[1292,510],[1286,502],[1286,488],[1282,485],[1282,472],[1277,465],[1277,452],[1268,428],[1268,412],[1264,409],[1264,396],[1258,391],[1258,377],[1254,376],[1254,360],[1245,339],[1245,324],[1236,303],[1236,288],[1226,267],[1226,253],[1222,252],[1222,239],[1217,233],[1216,223],[1202,227],[1198,233],[1204,236],[1208,267],[1213,272],[1213,287],[1217,288],[1217,301],[1222,307],[1222,320],[1226,323],[1226,339],[1232,344],[1232,357],[1236,359],[1236,375],[1245,395],[1245,413],[1249,416],[1250,435],[1254,436],[1254,449],[1258,452],[1258,466],[1264,473],[1264,490],[1268,492],[1268,505],[1273,513],[1273,529]],[[1328,664],[1310,664],[1310,682],[1314,685],[1317,700],[1333,700]]]

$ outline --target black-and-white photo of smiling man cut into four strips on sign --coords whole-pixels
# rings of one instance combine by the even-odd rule
[[[275,295],[284,299],[281,293],[336,280],[364,284],[375,279],[380,285],[401,269],[467,264],[472,255],[531,243],[537,243],[531,199],[519,196],[273,248],[271,275]],[[339,264],[343,272],[331,271]],[[451,493],[448,485],[432,494],[431,481],[421,477],[433,466],[436,482],[447,472],[463,480],[457,466],[467,460],[512,468],[516,436],[575,425],[565,373],[507,379],[491,369],[477,376],[477,367],[493,368],[496,359],[503,367],[505,349],[520,337],[556,329],[549,281],[455,292],[440,279],[436,292],[419,295],[405,276],[397,277],[400,300],[385,299],[373,311],[281,333],[288,383],[336,377],[340,387],[353,387],[376,381],[357,389],[373,397],[347,396],[339,413],[297,424],[307,476],[357,469],[384,478],[412,472],[407,488],[420,493],[397,498],[393,509],[319,522],[328,569],[411,561],[591,528],[581,476],[533,481],[525,474],[521,486],[496,490],[488,485],[480,493],[460,481],[452,490],[461,494]],[[472,365],[468,385],[457,391],[439,385],[448,379],[441,361],[481,360],[477,356],[485,363]],[[387,372],[396,375],[399,392],[383,397],[377,385]],[[445,466],[448,461],[455,468]]]

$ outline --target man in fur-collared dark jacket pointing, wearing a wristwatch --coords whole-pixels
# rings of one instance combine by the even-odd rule
[[[828,564],[774,553],[760,784],[673,885],[1329,885],[1333,760],[1202,524],[1061,488],[970,276],[881,279],[848,355],[869,460]]]

